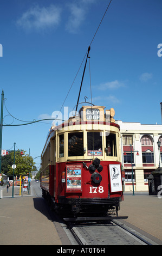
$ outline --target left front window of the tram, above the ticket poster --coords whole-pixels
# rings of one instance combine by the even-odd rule
[[[83,156],[83,132],[68,134],[68,156]]]

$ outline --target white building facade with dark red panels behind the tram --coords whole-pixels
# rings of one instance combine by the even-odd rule
[[[115,123],[120,125],[124,191],[133,191],[133,187],[134,191],[148,191],[147,178],[162,159],[162,125],[125,123],[121,120]],[[158,141],[161,142],[160,157]]]

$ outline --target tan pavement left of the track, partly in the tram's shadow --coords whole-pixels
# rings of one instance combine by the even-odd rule
[[[62,245],[43,198],[0,199],[0,227],[0,245]]]

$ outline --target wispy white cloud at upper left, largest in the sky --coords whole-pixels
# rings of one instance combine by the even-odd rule
[[[38,5],[30,8],[17,20],[17,25],[25,30],[41,30],[48,27],[56,27],[60,23],[61,9],[51,4],[49,7],[39,7]]]

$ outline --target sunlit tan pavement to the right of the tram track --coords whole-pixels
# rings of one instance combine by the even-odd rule
[[[122,223],[159,239],[162,245],[162,198],[149,196],[148,192],[135,192],[134,196],[125,192],[119,216],[128,216]]]

